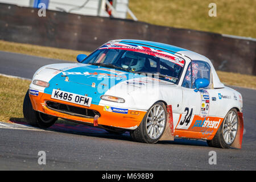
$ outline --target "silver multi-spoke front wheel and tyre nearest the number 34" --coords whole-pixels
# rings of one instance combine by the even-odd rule
[[[166,123],[166,106],[163,102],[156,102],[148,109],[139,127],[130,131],[130,135],[137,142],[156,143],[162,137]]]

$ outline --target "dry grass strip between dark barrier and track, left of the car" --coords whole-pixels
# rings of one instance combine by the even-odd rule
[[[0,40],[0,50],[68,61],[76,61],[76,56],[80,53],[84,53],[86,55],[89,55],[90,53],[88,51],[74,51],[71,49],[35,46],[31,44],[13,43],[3,40]]]

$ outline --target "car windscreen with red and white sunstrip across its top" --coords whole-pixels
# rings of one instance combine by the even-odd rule
[[[177,83],[184,62],[181,57],[157,49],[127,44],[105,44],[81,63],[112,67],[132,73],[157,73],[162,80]]]

